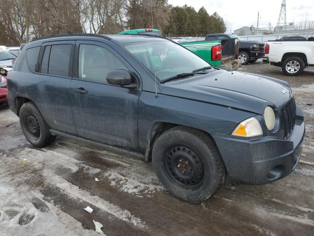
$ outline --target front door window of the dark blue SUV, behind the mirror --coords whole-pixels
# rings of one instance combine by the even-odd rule
[[[80,44],[78,78],[84,81],[107,84],[109,71],[127,67],[111,52],[97,45]]]

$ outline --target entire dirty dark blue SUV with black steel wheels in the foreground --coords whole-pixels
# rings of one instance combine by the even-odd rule
[[[32,41],[7,97],[33,146],[62,135],[152,160],[164,187],[192,203],[213,196],[226,173],[249,184],[288,176],[305,133],[287,82],[216,69],[145,35]]]

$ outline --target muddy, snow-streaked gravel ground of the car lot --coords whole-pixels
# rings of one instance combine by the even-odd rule
[[[0,109],[0,235],[314,235],[314,69],[284,76],[261,60],[240,71],[288,81],[302,106],[306,138],[295,172],[260,185],[223,186],[193,205],[168,194],[151,163],[58,137],[33,148],[18,118]],[[100,181],[95,181],[95,178]],[[92,213],[83,208],[91,207]]]

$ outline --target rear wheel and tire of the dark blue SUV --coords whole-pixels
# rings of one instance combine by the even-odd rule
[[[49,126],[32,102],[26,102],[20,110],[20,124],[28,142],[37,148],[54,142],[56,136],[50,133]]]

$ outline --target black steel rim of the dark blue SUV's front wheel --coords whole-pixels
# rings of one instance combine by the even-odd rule
[[[163,153],[165,172],[168,178],[184,189],[197,189],[204,178],[204,166],[199,156],[191,149],[173,145]]]

